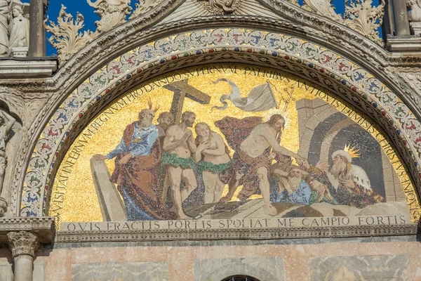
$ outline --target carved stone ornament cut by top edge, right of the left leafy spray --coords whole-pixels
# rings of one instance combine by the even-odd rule
[[[95,8],[101,20],[95,22],[98,27],[95,33],[107,32],[113,27],[126,22],[127,15],[132,10],[129,6],[131,0],[98,0],[95,3],[87,0],[89,6]]]

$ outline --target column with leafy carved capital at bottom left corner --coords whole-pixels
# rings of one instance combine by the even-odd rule
[[[12,251],[15,281],[32,281],[34,256],[39,248],[38,237],[32,233],[8,233],[8,244]]]

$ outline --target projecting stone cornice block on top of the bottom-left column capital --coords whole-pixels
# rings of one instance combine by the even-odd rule
[[[55,236],[54,218],[0,218],[0,243],[7,242],[8,233],[21,231],[33,233],[41,243],[51,243]]]

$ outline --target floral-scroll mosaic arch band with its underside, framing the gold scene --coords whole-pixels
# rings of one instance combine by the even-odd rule
[[[223,61],[278,68],[338,93],[382,126],[406,162],[412,163],[408,168],[420,186],[421,124],[387,86],[359,65],[316,44],[273,32],[229,28],[159,39],[121,55],[86,79],[56,110],[36,143],[20,214],[45,214],[55,162],[60,162],[65,143],[100,105],[159,74]]]

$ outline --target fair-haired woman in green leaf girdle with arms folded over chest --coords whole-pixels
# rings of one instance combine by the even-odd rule
[[[198,145],[195,154],[197,168],[199,172],[203,172],[205,184],[204,203],[217,203],[225,187],[225,183],[220,181],[220,173],[231,166],[229,151],[222,136],[211,131],[208,124],[196,124],[194,130],[197,134],[196,145]]]

